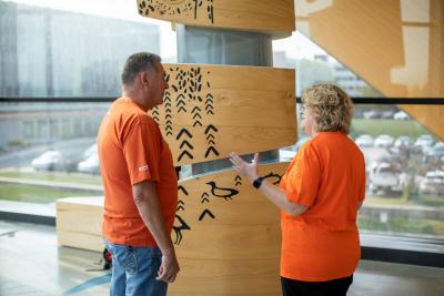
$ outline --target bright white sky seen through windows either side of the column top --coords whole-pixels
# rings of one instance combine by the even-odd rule
[[[138,22],[154,23],[160,28],[160,54],[164,59],[176,57],[175,32],[171,23],[149,18],[138,13],[135,0],[6,0],[30,6],[46,7],[57,10],[77,11]],[[324,51],[299,32],[289,38],[273,41],[273,51],[284,51],[291,59],[311,59]]]

